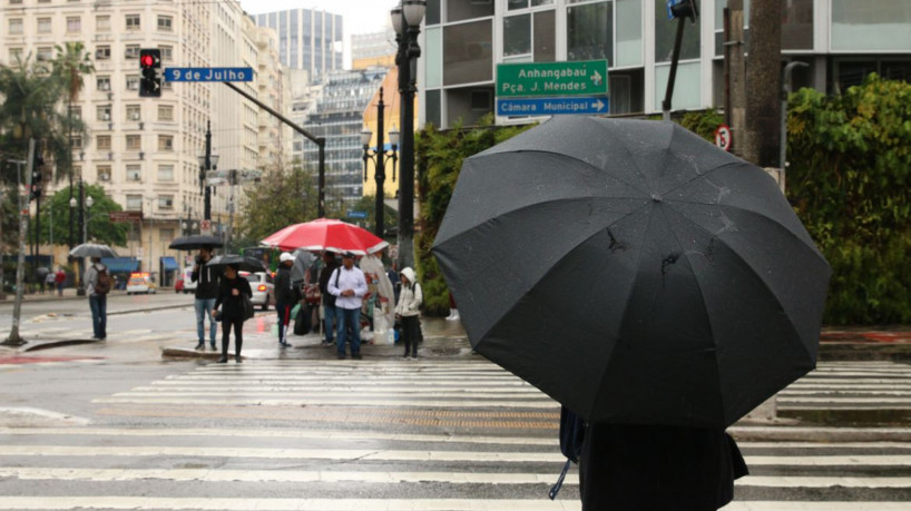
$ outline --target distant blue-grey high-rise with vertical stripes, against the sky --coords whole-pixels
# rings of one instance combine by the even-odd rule
[[[278,58],[291,69],[303,69],[313,81],[342,69],[342,17],[322,10],[290,9],[255,14],[259,27],[278,32]]]

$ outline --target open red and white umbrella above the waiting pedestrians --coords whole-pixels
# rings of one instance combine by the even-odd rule
[[[331,250],[365,255],[389,246],[370,230],[342,220],[319,218],[290,225],[262,240],[263,245],[283,250]]]

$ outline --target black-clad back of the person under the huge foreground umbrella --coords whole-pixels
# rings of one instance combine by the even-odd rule
[[[747,469],[723,428],[589,424],[579,455],[582,511],[714,511]]]

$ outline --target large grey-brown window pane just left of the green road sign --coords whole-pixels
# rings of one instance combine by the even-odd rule
[[[443,30],[444,85],[493,80],[492,21],[453,24]]]

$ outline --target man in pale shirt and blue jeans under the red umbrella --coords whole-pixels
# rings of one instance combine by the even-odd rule
[[[351,342],[351,357],[361,360],[361,305],[366,294],[366,278],[364,272],[354,266],[354,254],[351,252],[342,255],[342,266],[329,279],[329,292],[335,296],[335,312],[339,316],[335,333],[337,357],[345,357],[345,344]],[[346,332],[347,327],[351,333]]]

